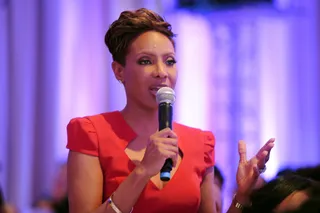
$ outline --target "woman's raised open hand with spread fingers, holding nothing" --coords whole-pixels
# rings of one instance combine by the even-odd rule
[[[249,198],[254,186],[259,178],[260,170],[266,168],[271,149],[274,147],[275,139],[268,142],[258,151],[258,153],[247,161],[247,149],[244,141],[239,141],[239,165],[237,171],[237,196]],[[240,201],[240,200],[239,200]]]

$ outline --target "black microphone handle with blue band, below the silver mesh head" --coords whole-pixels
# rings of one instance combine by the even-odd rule
[[[170,103],[159,104],[159,131],[169,127],[172,129],[172,105]],[[160,179],[162,181],[169,181],[171,179],[173,161],[172,159],[166,159],[163,167],[160,170]]]

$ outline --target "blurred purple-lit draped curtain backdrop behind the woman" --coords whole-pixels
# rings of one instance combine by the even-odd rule
[[[320,1],[0,0],[0,185],[9,203],[35,212],[65,193],[69,120],[122,109],[104,34],[121,11],[140,7],[178,34],[175,120],[215,134],[225,206],[240,139],[250,157],[276,138],[266,180],[319,164]]]

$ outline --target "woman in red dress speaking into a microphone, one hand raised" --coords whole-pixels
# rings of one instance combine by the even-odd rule
[[[122,12],[110,26],[105,43],[127,104],[122,111],[68,124],[71,213],[216,211],[212,133],[177,123],[173,130],[158,131],[155,94],[164,86],[174,88],[177,80],[173,37],[171,25],[147,9]],[[247,202],[273,142],[250,161],[245,144],[239,144],[239,203]],[[174,162],[172,179],[162,182],[159,171],[167,158]],[[229,211],[239,212],[236,206]]]

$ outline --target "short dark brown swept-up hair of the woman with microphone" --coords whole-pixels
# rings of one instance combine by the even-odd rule
[[[139,35],[148,31],[162,33],[175,46],[173,40],[175,34],[171,31],[171,24],[159,14],[145,8],[123,11],[119,18],[110,25],[104,38],[113,60],[125,66],[130,44]]]

